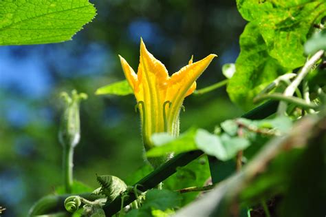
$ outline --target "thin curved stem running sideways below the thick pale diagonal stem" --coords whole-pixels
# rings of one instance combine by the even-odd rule
[[[293,103],[298,105],[299,107],[303,107],[304,109],[317,109],[319,106],[313,103],[306,103],[305,100],[294,97],[294,96],[284,96],[283,94],[274,93],[274,94],[263,94],[254,99],[255,102],[263,101],[265,99],[276,99],[279,101]],[[281,102],[282,103],[282,102]]]

